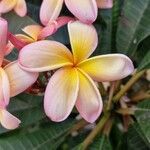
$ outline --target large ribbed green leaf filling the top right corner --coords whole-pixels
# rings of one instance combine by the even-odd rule
[[[117,31],[117,50],[133,55],[150,35],[150,0],[126,0]]]

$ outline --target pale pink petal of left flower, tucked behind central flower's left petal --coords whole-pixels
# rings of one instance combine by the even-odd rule
[[[31,73],[22,70],[17,61],[8,64],[4,70],[9,79],[11,97],[25,91],[38,78],[38,73]]]

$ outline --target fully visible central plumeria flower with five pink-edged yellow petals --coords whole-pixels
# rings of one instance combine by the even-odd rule
[[[56,41],[39,41],[25,46],[19,54],[22,69],[43,72],[58,69],[45,91],[44,109],[56,122],[65,120],[74,105],[88,122],[94,122],[103,104],[94,81],[120,80],[134,70],[131,60],[122,54],[88,58],[97,47],[98,37],[92,25],[79,21],[68,24],[72,53]]]

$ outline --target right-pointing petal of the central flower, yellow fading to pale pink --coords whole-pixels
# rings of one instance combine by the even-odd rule
[[[132,61],[123,54],[96,56],[81,62],[78,67],[96,81],[120,80],[134,70]]]

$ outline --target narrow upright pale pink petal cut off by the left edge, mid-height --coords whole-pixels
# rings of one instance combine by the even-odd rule
[[[10,85],[6,72],[0,68],[0,108],[6,107],[10,99]]]

